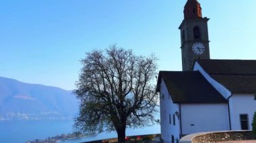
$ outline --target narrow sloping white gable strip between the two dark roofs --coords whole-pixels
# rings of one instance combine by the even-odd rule
[[[232,93],[228,89],[226,89],[226,87],[212,79],[212,77],[210,77],[210,75],[208,75],[205,72],[205,70],[203,70],[203,68],[198,64],[198,62],[195,62],[193,70],[198,70],[203,75],[203,77],[205,77],[205,79],[226,99],[228,99],[228,97],[232,95]]]

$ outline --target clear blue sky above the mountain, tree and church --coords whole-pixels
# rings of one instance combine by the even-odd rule
[[[110,44],[152,52],[159,70],[181,70],[178,27],[187,0],[0,1],[0,77],[74,89],[79,60]],[[210,56],[256,59],[256,1],[199,0]]]

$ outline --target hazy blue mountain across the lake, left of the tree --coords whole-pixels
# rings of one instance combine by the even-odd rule
[[[72,118],[78,105],[72,91],[0,77],[0,120]]]

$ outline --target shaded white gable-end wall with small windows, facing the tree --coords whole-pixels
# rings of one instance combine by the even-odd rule
[[[162,95],[164,95],[164,99],[162,98]],[[179,105],[172,102],[172,99],[166,89],[166,85],[162,80],[160,85],[160,124],[161,135],[164,142],[171,142],[172,135],[174,136],[174,140],[179,140],[179,120],[175,115],[175,126],[173,126],[172,120],[172,115],[175,111],[179,111]],[[171,115],[171,124],[169,123],[169,114]]]

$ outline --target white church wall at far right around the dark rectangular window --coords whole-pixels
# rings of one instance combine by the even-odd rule
[[[231,130],[241,130],[240,114],[248,114],[249,130],[252,129],[253,114],[256,111],[256,100],[253,94],[233,94],[229,99]]]

